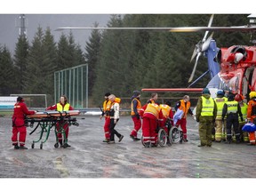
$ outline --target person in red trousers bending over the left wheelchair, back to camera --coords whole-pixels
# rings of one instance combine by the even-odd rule
[[[159,105],[148,103],[144,109],[142,118],[142,136],[145,148],[156,147],[156,129],[164,127],[164,116]]]

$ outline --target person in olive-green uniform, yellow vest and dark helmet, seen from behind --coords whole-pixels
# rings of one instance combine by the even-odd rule
[[[208,88],[204,88],[202,96],[196,104],[196,122],[199,122],[200,145],[198,147],[212,146],[212,127],[217,116],[217,105],[211,97]]]

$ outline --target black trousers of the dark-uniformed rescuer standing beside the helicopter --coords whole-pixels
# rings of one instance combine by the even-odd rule
[[[237,114],[228,114],[227,116],[227,140],[232,140],[232,125],[234,132],[236,134],[236,141],[240,141],[240,132],[239,132],[239,121]]]

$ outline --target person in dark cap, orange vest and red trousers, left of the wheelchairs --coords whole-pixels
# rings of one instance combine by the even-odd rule
[[[137,134],[141,128],[140,108],[141,108],[140,92],[134,91],[133,95],[132,95],[132,104],[131,104],[131,116],[132,116],[132,121],[133,121],[134,127],[130,134],[130,137],[134,141],[140,140],[137,137]]]

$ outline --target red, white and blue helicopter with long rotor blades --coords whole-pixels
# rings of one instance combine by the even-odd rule
[[[211,80],[206,85],[210,89],[212,97],[221,89],[226,92],[239,93],[248,99],[249,92],[256,90],[256,46],[232,45],[230,47],[218,48],[212,39],[214,31],[230,32],[254,32],[256,31],[256,15],[249,15],[250,24],[236,27],[212,27],[213,14],[207,27],[180,27],[180,28],[84,28],[84,27],[61,27],[56,31],[64,29],[111,29],[111,30],[164,30],[170,32],[197,32],[205,31],[203,40],[196,44],[191,60],[196,57],[196,62],[188,79],[193,80],[197,61],[201,55],[208,59],[208,70],[199,76],[187,88],[144,88],[142,92],[202,92],[203,88],[191,88],[203,76],[210,73]],[[207,38],[209,32],[212,34]],[[252,41],[253,44],[256,42]]]

